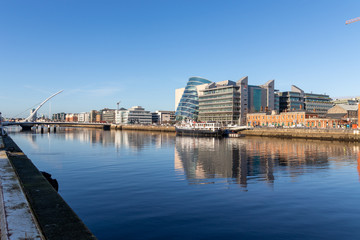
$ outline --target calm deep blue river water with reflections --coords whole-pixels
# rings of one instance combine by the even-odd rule
[[[10,136],[99,239],[358,239],[360,145],[63,128]]]

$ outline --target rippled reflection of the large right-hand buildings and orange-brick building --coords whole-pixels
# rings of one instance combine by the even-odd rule
[[[326,171],[330,162],[354,164],[358,152],[356,144],[324,141],[177,137],[174,166],[190,184],[227,181],[247,187],[265,181],[272,186],[280,175],[296,180]]]

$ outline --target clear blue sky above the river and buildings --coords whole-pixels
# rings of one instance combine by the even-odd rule
[[[173,110],[191,76],[359,96],[355,17],[357,0],[0,0],[0,111],[62,89],[40,113]]]

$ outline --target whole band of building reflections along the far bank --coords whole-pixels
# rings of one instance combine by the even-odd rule
[[[21,133],[24,134],[24,133]],[[190,184],[236,183],[247,187],[263,181],[270,186],[279,177],[296,181],[303,174],[327,171],[331,166],[351,166],[359,173],[360,144],[274,138],[191,138],[174,133],[103,131],[100,129],[61,128],[52,138],[130,149],[139,152],[175,145],[174,168]],[[36,138],[49,134],[29,133],[36,149]]]

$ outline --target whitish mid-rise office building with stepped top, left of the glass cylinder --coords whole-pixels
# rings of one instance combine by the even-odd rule
[[[152,114],[140,106],[115,111],[116,124],[151,124]]]

